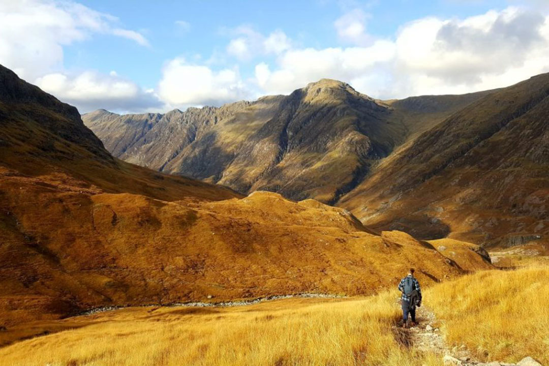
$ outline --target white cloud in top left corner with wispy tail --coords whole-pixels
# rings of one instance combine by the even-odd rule
[[[33,80],[63,66],[63,47],[93,33],[148,42],[138,32],[113,27],[114,16],[72,2],[0,1],[0,63]]]

